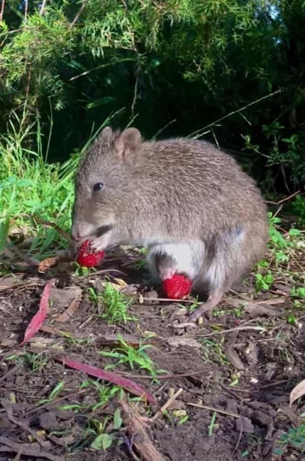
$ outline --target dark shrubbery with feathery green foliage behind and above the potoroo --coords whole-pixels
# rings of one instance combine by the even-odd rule
[[[146,139],[218,143],[267,192],[305,183],[303,0],[2,0],[0,14],[2,136],[36,123],[46,148],[51,128],[62,161],[116,114]]]

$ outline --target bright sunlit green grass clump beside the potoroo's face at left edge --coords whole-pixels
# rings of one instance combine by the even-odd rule
[[[28,146],[33,130],[36,150]],[[64,248],[63,236],[53,227],[42,225],[39,219],[52,221],[69,232],[78,156],[63,164],[48,163],[47,152],[43,155],[39,119],[23,128],[22,120],[15,115],[6,135],[0,136],[0,157],[0,251],[14,229],[23,238],[33,237],[29,255],[43,258],[55,245],[57,249]]]

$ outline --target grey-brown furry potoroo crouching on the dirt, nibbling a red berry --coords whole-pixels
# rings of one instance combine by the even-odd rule
[[[92,248],[147,246],[161,279],[185,273],[210,311],[264,256],[267,210],[255,181],[230,155],[205,142],[144,142],[110,127],[90,147],[76,178],[72,237]]]

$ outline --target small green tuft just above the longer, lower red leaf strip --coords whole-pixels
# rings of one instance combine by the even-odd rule
[[[114,348],[112,351],[100,351],[99,354],[105,357],[117,359],[115,364],[106,365],[105,370],[117,367],[120,364],[128,364],[131,370],[135,366],[141,370],[146,370],[152,378],[156,377],[158,373],[166,373],[165,370],[157,370],[154,361],[145,352],[146,349],[153,347],[151,344],[143,344],[138,349],[127,344],[124,339],[118,335],[118,340],[121,344],[120,347]]]

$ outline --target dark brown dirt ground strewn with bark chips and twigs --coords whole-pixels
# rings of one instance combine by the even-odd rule
[[[155,418],[158,407],[136,405],[160,459],[304,460],[295,448],[282,456],[272,454],[281,434],[295,427],[305,412],[305,402],[289,407],[291,390],[305,378],[302,315],[297,325],[287,321],[292,309],[289,281],[277,281],[269,291],[255,294],[250,277],[247,289],[227,294],[212,320],[186,325],[188,304],[159,301],[160,292],[143,283],[147,274],[134,268],[134,259],[130,253],[103,265],[110,281],[133,297],[128,314],[135,320],[115,325],[103,319],[103,305],[94,305],[87,294],[88,286],[103,289],[105,273],[76,276],[71,263],[45,273],[37,268],[21,272],[16,266],[14,275],[0,280],[0,461],[147,459],[137,449],[141,434],[128,429],[130,415],[109,449],[90,447],[102,432],[102,422],[107,415],[111,421],[120,405],[117,394],[95,408],[102,390],[84,387],[86,374],[56,360],[60,354],[104,368],[113,359],[98,351],[116,347],[118,334],[135,347],[144,340],[152,344],[146,352],[156,369],[167,374],[154,381],[147,371],[131,370],[128,364],[113,371],[147,388],[160,406],[180,390],[166,413]],[[113,268],[124,275],[109,271]],[[55,285],[43,327],[18,346],[50,278]],[[65,315],[72,302],[74,312]],[[51,398],[59,382],[64,384]],[[104,384],[111,387],[100,381]],[[129,396],[134,397],[131,392]],[[113,426],[106,424],[104,430],[113,432]]]

